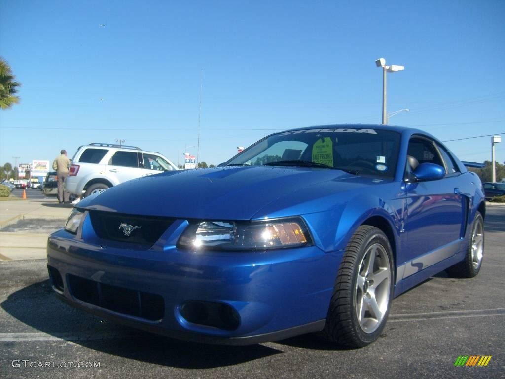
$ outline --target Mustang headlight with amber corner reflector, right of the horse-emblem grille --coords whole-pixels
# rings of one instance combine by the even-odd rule
[[[311,244],[300,219],[261,222],[203,221],[188,226],[178,246],[185,249],[263,250]]]

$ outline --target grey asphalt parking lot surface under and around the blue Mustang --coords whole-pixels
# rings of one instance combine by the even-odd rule
[[[0,262],[0,377],[505,377],[505,207],[489,206],[485,224],[480,274],[442,272],[399,296],[381,338],[359,350],[314,335],[248,347],[172,340],[60,302],[44,259]],[[455,367],[462,355],[492,358]]]

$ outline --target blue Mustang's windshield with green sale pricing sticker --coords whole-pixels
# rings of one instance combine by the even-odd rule
[[[301,166],[393,177],[400,134],[389,130],[314,128],[266,137],[226,166]]]

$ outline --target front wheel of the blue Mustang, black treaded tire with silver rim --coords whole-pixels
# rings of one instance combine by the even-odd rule
[[[326,325],[323,329],[323,336],[327,340],[347,348],[364,347],[377,340],[386,324],[393,298],[392,255],[389,241],[380,229],[362,225],[352,235],[340,263]],[[374,257],[371,275],[369,275],[369,264],[365,264],[365,258],[369,256]],[[373,283],[373,279],[370,283],[369,278],[375,277],[378,283]],[[370,295],[372,290],[373,294]],[[375,301],[376,291],[379,301]],[[365,304],[371,302],[370,299],[373,299],[376,304],[380,302],[380,306],[377,307],[377,310],[380,310],[377,312],[380,316],[377,317],[375,324],[373,321],[375,315],[370,313],[373,308]],[[369,310],[364,311],[365,307]],[[358,311],[360,311],[360,317]],[[366,317],[367,312],[369,317]]]

